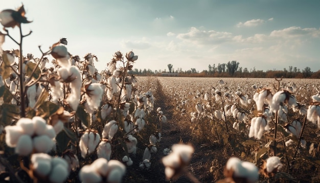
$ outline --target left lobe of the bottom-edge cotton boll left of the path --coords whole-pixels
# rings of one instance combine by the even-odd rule
[[[99,183],[102,177],[91,166],[85,165],[79,172],[79,178],[83,183]]]

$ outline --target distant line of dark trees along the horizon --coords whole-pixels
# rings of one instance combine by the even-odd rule
[[[228,61],[227,63],[209,64],[208,70],[199,72],[196,68],[182,71],[182,68],[175,69],[173,64],[168,64],[168,71],[155,70],[144,68],[139,70],[135,68],[129,74],[136,76],[162,76],[162,74],[179,74],[181,77],[235,77],[235,78],[320,78],[320,70],[312,72],[309,66],[303,70],[295,66],[289,65],[288,68],[283,70],[256,70],[256,68],[241,67],[238,61]]]

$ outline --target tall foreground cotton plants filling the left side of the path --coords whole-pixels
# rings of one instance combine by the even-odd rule
[[[121,182],[127,167],[152,166],[162,136],[151,123],[167,119],[154,110],[156,84],[142,87],[128,74],[137,55],[118,51],[100,73],[97,56],[72,55],[66,38],[48,51],[39,47],[41,58],[25,56],[22,40],[32,32],[22,34],[22,24],[30,23],[24,6],[3,10],[0,22],[1,181]],[[20,42],[11,28],[20,30]],[[2,50],[5,38],[19,49]]]

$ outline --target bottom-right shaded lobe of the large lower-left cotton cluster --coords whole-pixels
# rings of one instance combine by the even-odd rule
[[[52,149],[53,146],[54,143],[52,139],[50,139],[47,135],[39,135],[33,138],[33,147],[37,152],[47,153]]]

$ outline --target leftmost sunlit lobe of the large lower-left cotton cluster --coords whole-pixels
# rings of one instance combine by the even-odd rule
[[[6,131],[6,144],[9,147],[15,147],[20,136],[23,134],[23,130],[21,126],[6,126],[5,127]]]

